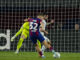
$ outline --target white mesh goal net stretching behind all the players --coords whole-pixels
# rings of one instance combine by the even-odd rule
[[[16,50],[20,35],[11,37],[20,29],[28,16],[46,12],[49,16],[46,35],[51,45],[60,52],[80,52],[79,0],[0,0],[0,50]],[[21,51],[35,51],[30,39],[25,39]]]

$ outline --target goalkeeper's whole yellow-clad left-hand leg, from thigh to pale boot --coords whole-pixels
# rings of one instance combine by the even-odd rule
[[[19,42],[18,42],[18,44],[17,44],[17,50],[16,50],[15,53],[18,53],[18,52],[19,52],[19,49],[21,48],[24,39],[26,39],[26,38],[28,37],[28,34],[25,33],[25,32],[26,32],[26,30],[24,29],[24,30],[22,31],[21,37],[20,37],[20,39],[19,39]]]

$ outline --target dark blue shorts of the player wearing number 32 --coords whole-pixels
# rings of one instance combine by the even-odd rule
[[[32,40],[32,42],[34,44],[36,44],[37,43],[37,40],[39,40],[42,43],[45,39],[42,36],[42,34],[39,32],[38,35],[36,35],[36,34],[30,35],[30,40]]]

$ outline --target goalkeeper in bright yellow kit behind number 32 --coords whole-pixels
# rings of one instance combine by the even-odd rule
[[[28,18],[28,19],[30,19],[30,18]],[[25,20],[27,20],[27,19],[25,19]],[[21,37],[20,37],[19,42],[17,44],[17,49],[15,52],[16,54],[19,53],[19,49],[21,48],[24,39],[27,39],[27,37],[29,36],[29,22],[25,22],[22,25],[20,30],[11,38],[11,41],[14,41],[14,39],[20,34],[21,34]]]

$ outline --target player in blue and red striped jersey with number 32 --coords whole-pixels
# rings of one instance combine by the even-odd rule
[[[39,52],[40,57],[44,57],[44,55],[42,54],[42,51],[37,44],[37,40],[39,40],[41,43],[43,43],[45,45],[45,47],[49,48],[55,54],[55,51],[53,50],[51,45],[46,42],[46,40],[44,39],[44,37],[41,35],[41,33],[39,31],[40,25],[42,27],[42,31],[45,31],[43,29],[43,25],[44,25],[42,23],[43,19],[44,19],[44,15],[39,14],[39,15],[37,15],[37,18],[32,18],[32,19],[28,20],[30,22],[29,23],[30,24],[30,29],[29,29],[30,30],[29,31],[30,39],[35,44],[36,50],[37,50],[37,52]]]

